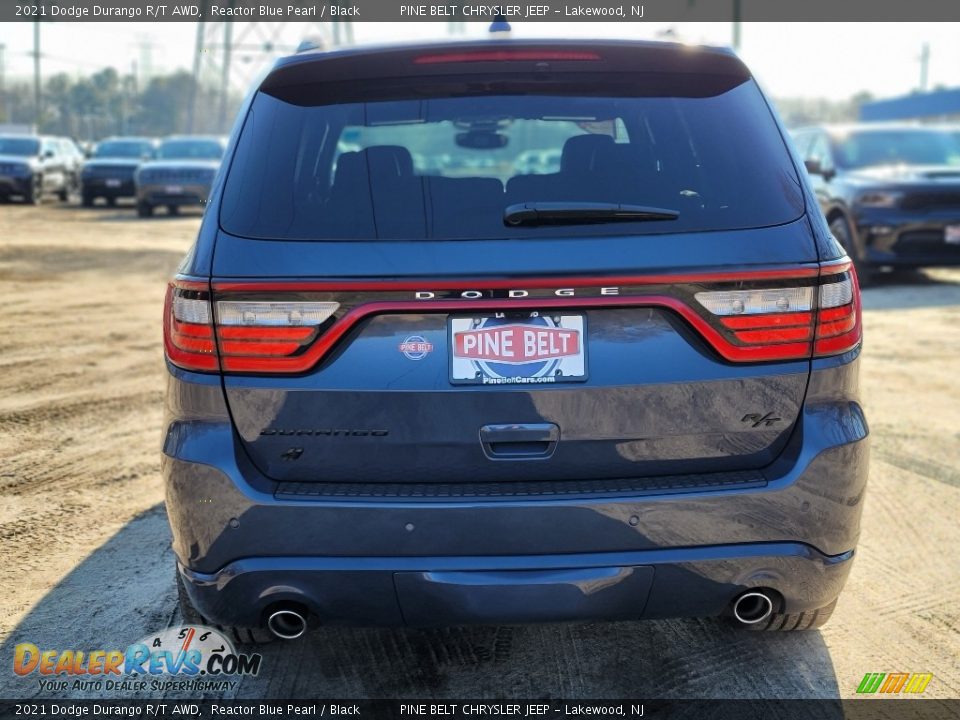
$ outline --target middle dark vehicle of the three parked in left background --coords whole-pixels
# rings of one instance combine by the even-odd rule
[[[98,143],[80,175],[83,206],[92,207],[97,198],[115,205],[117,198],[134,197],[133,174],[141,163],[156,156],[158,145],[146,137],[114,137]]]

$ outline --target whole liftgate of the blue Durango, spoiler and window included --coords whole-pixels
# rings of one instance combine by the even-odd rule
[[[818,269],[749,73],[670,46],[463,47],[297,60],[254,99],[212,284],[250,458],[305,483],[769,464]]]

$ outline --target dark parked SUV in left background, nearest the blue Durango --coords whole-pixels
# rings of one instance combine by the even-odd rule
[[[205,205],[226,150],[225,138],[173,136],[157,150],[156,160],[136,171],[137,214],[150,217],[158,205],[175,215],[185,205]]]

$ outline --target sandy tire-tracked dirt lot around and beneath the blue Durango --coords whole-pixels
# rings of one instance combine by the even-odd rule
[[[198,222],[0,205],[0,697],[49,696],[10,672],[18,642],[125,647],[180,620],[160,311]],[[960,696],[960,271],[898,274],[864,302],[871,487],[822,632],[322,631],[267,646],[261,674],[224,696],[847,697],[864,673],[895,671],[931,672],[927,696]]]

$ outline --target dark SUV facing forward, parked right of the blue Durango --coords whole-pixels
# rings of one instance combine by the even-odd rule
[[[960,140],[918,125],[794,133],[834,237],[861,283],[883,266],[960,264]]]

